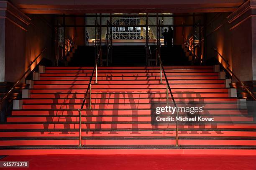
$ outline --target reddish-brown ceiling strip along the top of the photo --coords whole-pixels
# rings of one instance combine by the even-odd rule
[[[24,13],[232,12],[246,0],[10,0]]]

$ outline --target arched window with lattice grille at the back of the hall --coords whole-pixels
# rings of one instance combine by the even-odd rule
[[[140,25],[141,19],[138,17],[123,17],[116,20],[114,25]],[[146,27],[113,27],[113,39],[116,40],[136,40],[146,39]],[[148,28],[148,38],[153,39],[153,32]]]

